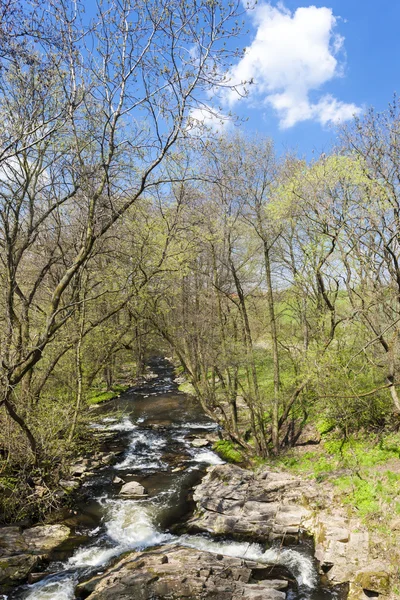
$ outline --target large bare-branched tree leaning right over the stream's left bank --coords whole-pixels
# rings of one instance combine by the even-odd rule
[[[58,50],[28,32],[32,59],[13,53],[2,73],[0,404],[35,454],[17,388],[75,314],[101,240],[162,180],[203,94],[225,85],[236,16],[237,5],[206,0],[110,0],[87,23],[79,4],[50,3]]]

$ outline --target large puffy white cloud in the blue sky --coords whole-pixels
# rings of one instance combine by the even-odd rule
[[[294,13],[282,4],[258,5],[253,15],[256,35],[241,61],[232,68],[232,83],[249,82],[248,101],[262,101],[278,113],[282,128],[305,120],[322,125],[350,119],[360,112],[329,94],[310,98],[335,77],[343,75],[338,53],[344,38],[334,32],[337,22],[330,8],[298,8]],[[229,92],[233,105],[239,96]]]

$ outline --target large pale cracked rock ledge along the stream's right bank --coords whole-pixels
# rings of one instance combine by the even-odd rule
[[[314,537],[321,575],[332,585],[349,584],[349,599],[390,597],[390,568],[371,553],[365,527],[335,508],[329,489],[282,472],[258,474],[225,464],[209,469],[194,492],[192,532],[281,540],[304,532]]]

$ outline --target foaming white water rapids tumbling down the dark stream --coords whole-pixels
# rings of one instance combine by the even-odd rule
[[[148,394],[154,396],[154,394]],[[168,437],[165,431],[141,427],[143,417],[135,419],[123,416],[120,419],[106,417],[94,427],[105,431],[121,432],[128,436],[128,448],[121,460],[114,466],[115,474],[129,478],[129,471],[143,473],[173,472],[174,465],[164,460],[168,450]],[[139,424],[139,426],[138,426]],[[172,423],[169,432],[177,443],[183,444],[187,458],[182,467],[182,477],[201,464],[221,464],[223,461],[209,449],[193,448],[186,439],[190,430],[215,428],[210,423],[182,422]],[[193,435],[193,434],[192,434]],[[201,434],[200,434],[201,435]],[[175,469],[176,471],[177,469]],[[296,577],[302,589],[311,590],[316,586],[313,562],[307,556],[293,549],[268,549],[260,544],[214,541],[201,535],[173,536],[159,526],[161,513],[173,507],[176,502],[181,480],[176,473],[175,488],[158,490],[148,499],[128,500],[118,496],[103,495],[97,497],[102,508],[102,524],[89,532],[90,545],[83,545],[62,564],[54,575],[48,575],[42,581],[25,586],[18,598],[25,600],[73,600],[75,588],[80,576],[94,574],[104,570],[111,559],[127,550],[144,550],[150,546],[178,544],[197,548],[225,556],[247,558],[266,564],[280,564],[287,567]],[[304,597],[304,596],[303,596]],[[116,599],[117,600],[117,599]]]

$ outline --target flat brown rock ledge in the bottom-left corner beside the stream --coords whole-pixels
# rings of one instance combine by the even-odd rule
[[[25,580],[70,535],[65,525],[0,528],[0,593]]]

